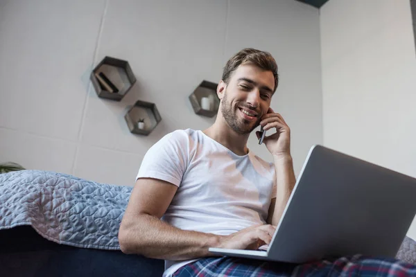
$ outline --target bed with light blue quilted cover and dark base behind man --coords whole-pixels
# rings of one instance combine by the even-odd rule
[[[2,276],[162,276],[163,260],[120,251],[131,190],[49,171],[1,174]],[[397,258],[415,264],[416,242],[406,237]]]

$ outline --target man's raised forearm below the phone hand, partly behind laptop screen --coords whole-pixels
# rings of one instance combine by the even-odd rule
[[[277,195],[276,204],[272,217],[272,225],[277,226],[284,208],[291,196],[295,186],[295,172],[293,172],[293,159],[291,155],[284,157],[274,157],[275,170],[277,176]]]

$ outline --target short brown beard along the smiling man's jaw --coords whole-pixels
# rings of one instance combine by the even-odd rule
[[[227,99],[227,91],[224,93],[224,98],[221,102],[221,113],[225,118],[225,121],[236,133],[238,134],[250,134],[261,121],[261,117],[257,118],[256,122],[250,122],[243,118],[239,118],[236,111],[233,110],[231,102]]]

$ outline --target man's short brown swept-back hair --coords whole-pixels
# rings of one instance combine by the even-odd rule
[[[228,83],[232,72],[241,64],[254,64],[265,71],[272,71],[273,76],[275,77],[275,89],[273,92],[276,91],[277,85],[279,84],[279,74],[277,73],[275,58],[273,58],[270,53],[254,48],[244,48],[239,51],[239,53],[236,53],[236,55],[231,57],[224,66],[223,81],[226,84]]]

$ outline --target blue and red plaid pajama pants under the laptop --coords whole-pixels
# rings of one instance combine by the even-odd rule
[[[243,258],[202,258],[178,269],[174,277],[416,276],[416,265],[361,255],[302,265]]]

